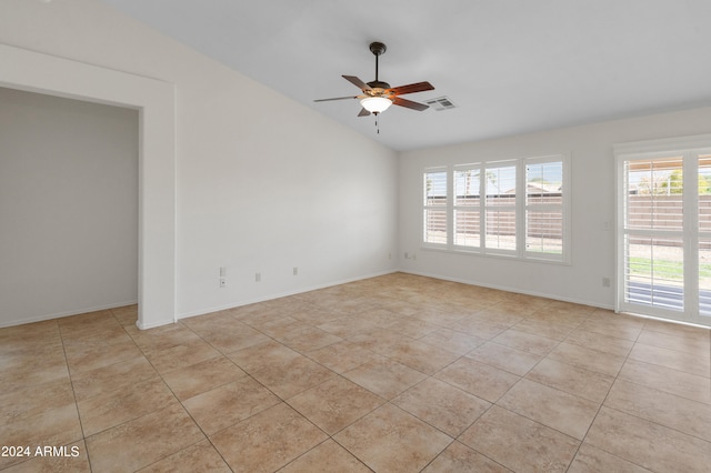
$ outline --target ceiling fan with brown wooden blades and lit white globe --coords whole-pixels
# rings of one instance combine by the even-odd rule
[[[405,93],[423,92],[425,90],[434,90],[429,82],[417,82],[408,85],[390,87],[388,82],[382,82],[378,79],[378,58],[385,52],[385,44],[381,42],[370,43],[370,52],[375,56],[375,80],[372,82],[363,82],[356,76],[343,76],[343,79],[351,82],[356,87],[360,88],[363,92],[360,95],[337,97],[333,99],[319,99],[314,102],[328,102],[332,100],[347,100],[347,99],[360,99],[362,109],[358,117],[368,117],[369,114],[378,115],[384,112],[390,105],[395,104],[412,110],[427,110],[429,107],[424,103],[413,102],[401,98]]]

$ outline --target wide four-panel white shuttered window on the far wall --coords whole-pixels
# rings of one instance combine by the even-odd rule
[[[568,262],[568,165],[554,155],[425,169],[423,246]]]

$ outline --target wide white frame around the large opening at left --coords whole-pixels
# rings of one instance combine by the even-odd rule
[[[177,321],[176,87],[0,44],[0,85],[139,111],[139,329]]]

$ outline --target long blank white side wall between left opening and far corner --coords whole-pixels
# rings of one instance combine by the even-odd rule
[[[96,1],[3,1],[0,43],[174,83],[178,316],[395,268],[397,154],[375,141]]]

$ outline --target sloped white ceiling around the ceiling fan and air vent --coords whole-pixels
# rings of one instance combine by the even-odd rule
[[[710,0],[102,0],[394,150],[711,104]],[[457,108],[358,118],[341,78]],[[249,93],[246,91],[246,93]]]

